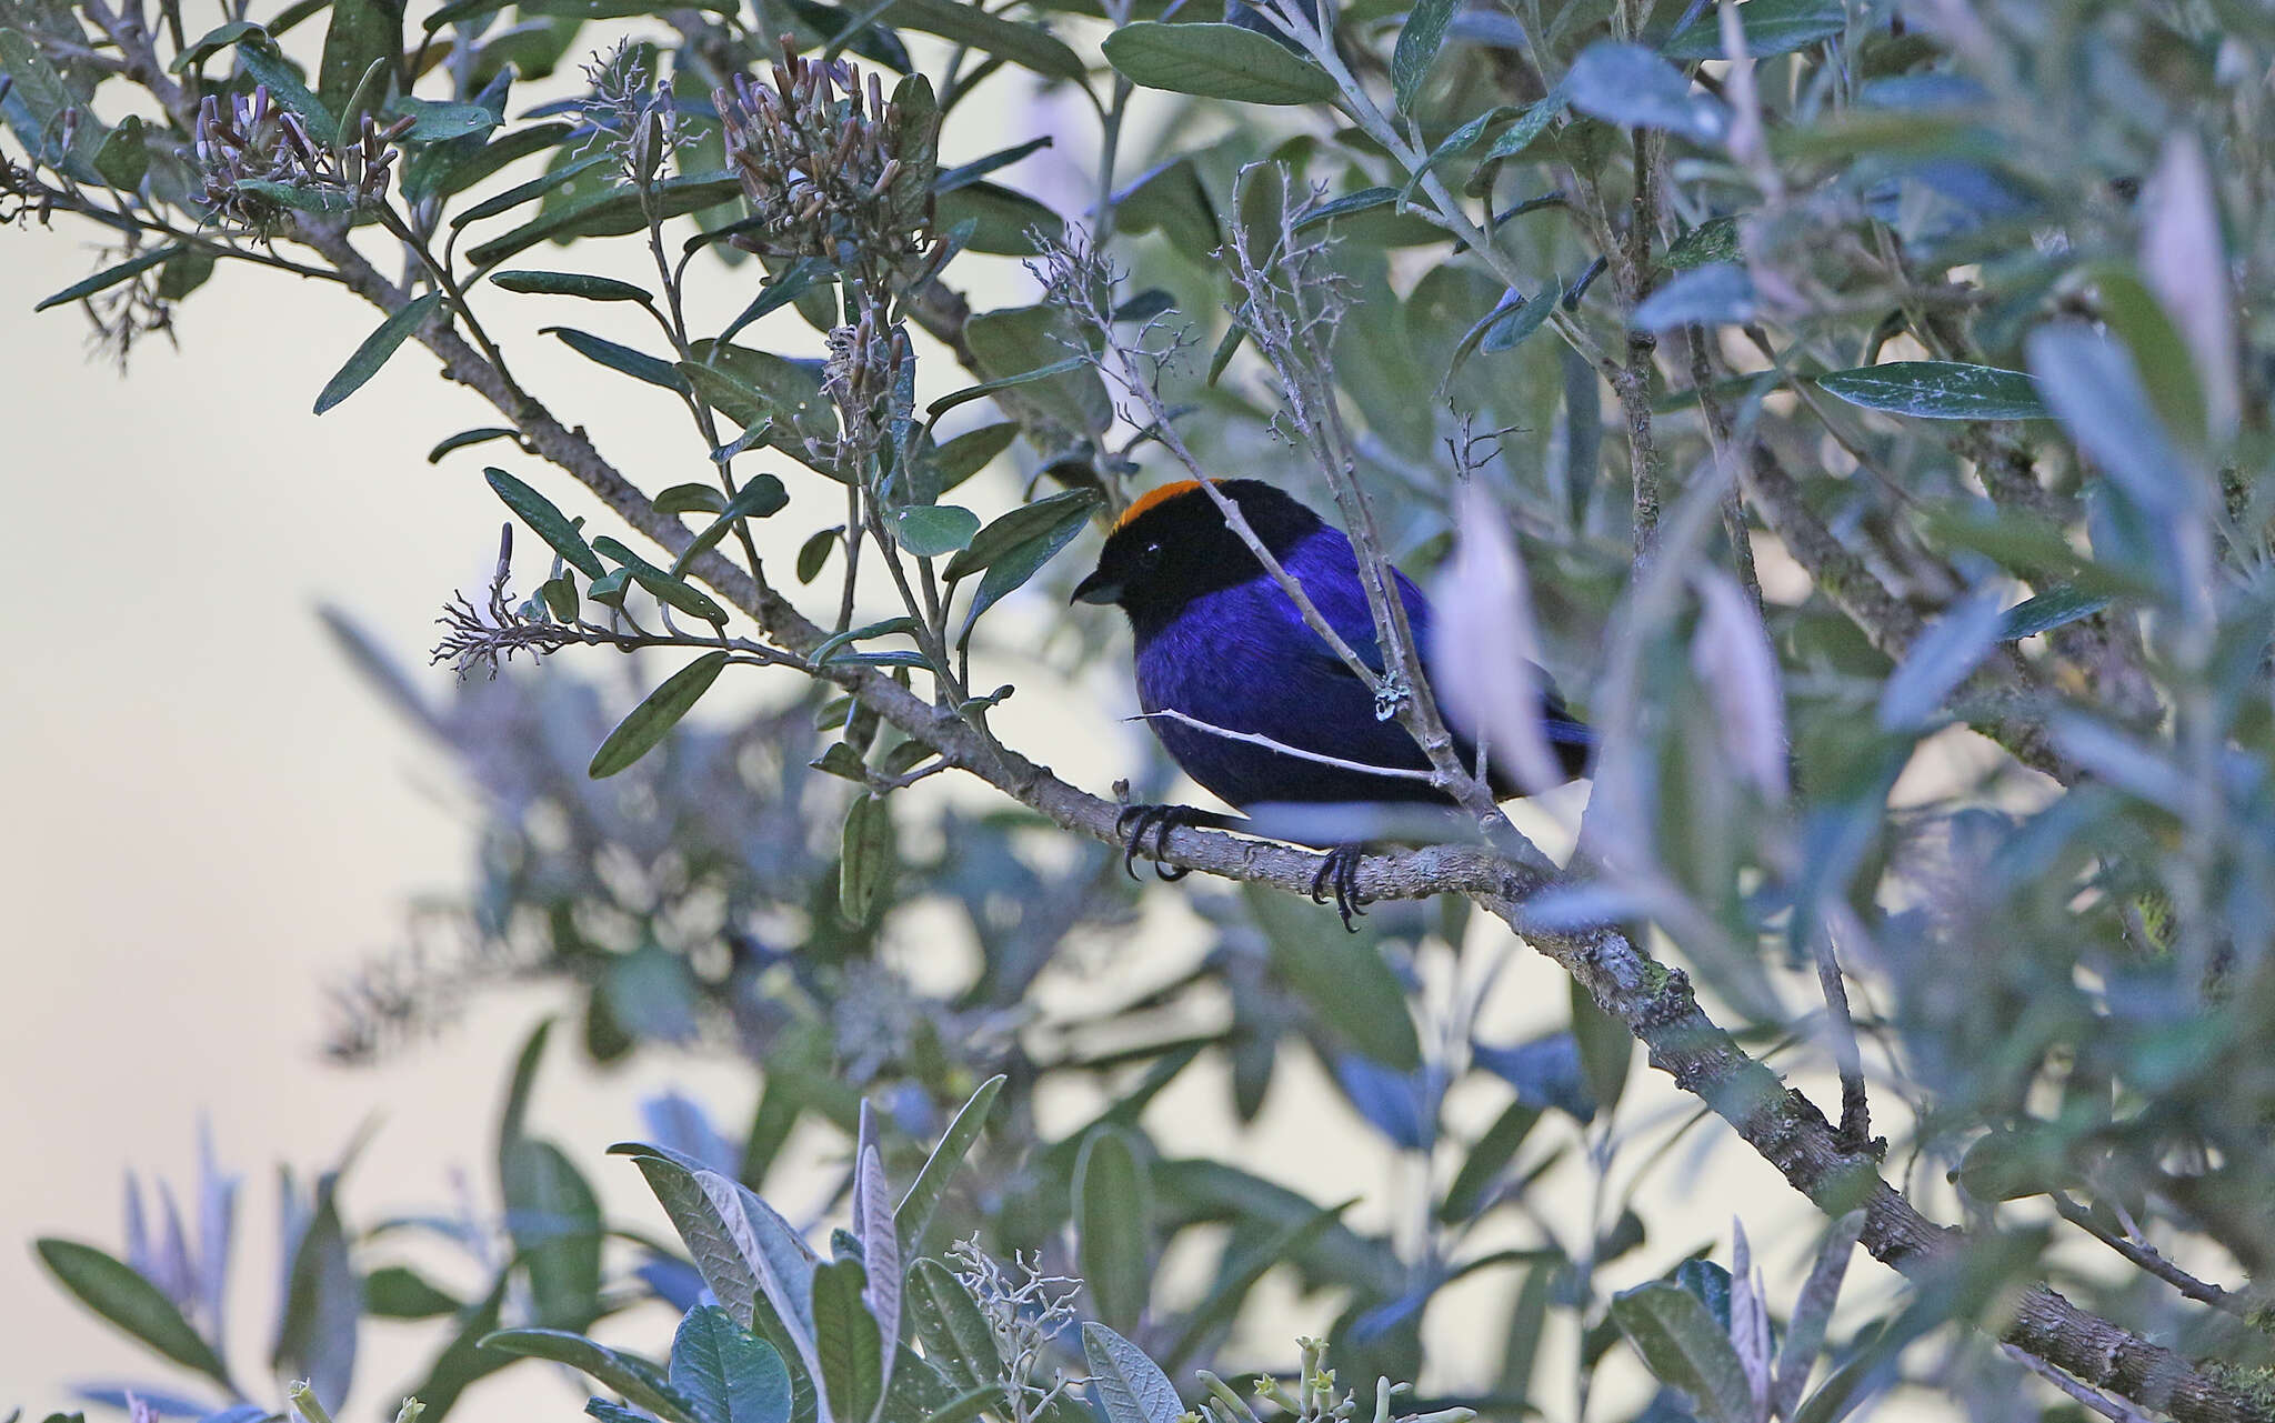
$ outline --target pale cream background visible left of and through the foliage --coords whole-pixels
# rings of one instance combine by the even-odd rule
[[[448,1200],[455,1168],[487,1198],[505,1061],[546,1006],[530,993],[485,1000],[462,1029],[380,1070],[330,1068],[316,1052],[325,986],[400,940],[414,895],[464,888],[471,824],[446,763],[355,678],[316,606],[350,610],[423,667],[439,601],[473,587],[496,546],[500,505],[480,469],[507,446],[441,467],[425,464],[425,451],[450,430],[494,423],[491,412],[407,346],[346,405],[312,417],[316,389],[371,330],[371,310],[234,266],[182,307],[182,353],[146,342],[121,380],[89,357],[75,310],[30,314],[93,269],[84,244],[66,223],[0,232],[0,510],[14,585],[0,603],[0,785],[14,811],[0,822],[0,902],[11,911],[16,1004],[0,1034],[0,1138],[14,1145],[14,1168],[0,1173],[0,1300],[11,1321],[0,1332],[0,1416],[23,1403],[34,1418],[61,1407],[71,1382],[173,1375],[68,1305],[34,1264],[32,1236],[118,1250],[121,1173],[187,1186],[202,1113],[223,1159],[248,1177],[234,1359],[246,1380],[266,1377],[273,1166],[312,1175],[378,1118],[346,1191],[353,1220]],[[742,301],[723,287],[717,298]],[[539,298],[500,294],[489,305],[510,301],[530,303],[537,323]],[[578,316],[619,339],[637,330],[605,312]],[[555,410],[594,426],[637,483],[703,476],[669,401],[646,401],[551,342],[512,339],[516,369]],[[535,460],[498,462],[573,496]],[[1003,480],[987,499],[1001,503],[1008,490]],[[828,521],[801,521],[799,510],[778,526]],[[437,692],[448,683],[446,672],[421,676]],[[1015,699],[1001,724],[1012,745],[1101,788],[1135,765],[1112,710]],[[1561,1020],[1565,988],[1552,965],[1522,954],[1511,984],[1522,1018]],[[637,1134],[644,1093],[676,1081],[721,1122],[748,1111],[748,1075],[735,1066],[644,1054],[632,1072],[596,1077],[560,1052],[566,1043],[555,1047],[537,1127],[628,1214],[644,1193],[598,1152]],[[1636,1079],[1629,1100],[1640,1113],[1684,1111],[1640,1063]],[[1224,1118],[1219,1102],[1194,1088],[1158,1111],[1206,1132]],[[1326,1093],[1283,1088],[1249,1163],[1301,1161],[1322,1113],[1349,1122]],[[1743,1150],[1713,1161],[1711,1177],[1679,1191],[1668,1234],[1622,1261],[1629,1273],[1727,1241],[1734,1207],[1756,1241],[1777,1241],[1763,1250],[1772,1273],[1804,1264],[1813,1211]],[[1684,1175],[1679,1154],[1661,1188]],[[1347,1179],[1294,1184],[1324,1200],[1381,1195],[1385,1179],[1376,1154]],[[660,1214],[648,1225],[664,1229]],[[1852,1280],[1877,1293],[1888,1275],[1859,1259]],[[1324,1332],[1324,1309],[1290,1309],[1288,1332]],[[669,1325],[626,1327],[662,1352]],[[366,1336],[344,1423],[391,1416],[423,1339],[405,1327]],[[582,1398],[532,1368],[507,1380],[460,1416],[569,1418]]]

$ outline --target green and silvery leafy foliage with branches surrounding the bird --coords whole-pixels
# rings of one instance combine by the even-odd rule
[[[539,1029],[482,1209],[357,1229],[346,1163],[287,1184],[268,1371],[337,1407],[362,1321],[416,1316],[430,1421],[523,1357],[598,1418],[696,1423],[1606,1416],[1638,1366],[1643,1418],[1902,1387],[2004,1418],[2018,1368],[2052,1409],[2275,1416],[2268,1305],[2211,1284],[2275,1241],[2270,61],[2243,0],[303,0],[205,34],[0,0],[0,216],[114,241],[41,307],[125,357],[223,260],[339,282],[373,328],[318,412],[423,348],[505,421],[432,458],[519,449],[498,571],[444,617],[455,697],[341,624],[485,836],[334,1050],[551,977],[603,1063],[762,1081],[737,1132],[655,1104],[619,1154],[680,1243],[626,1239],[596,1143],[523,1129]],[[1087,148],[1067,212],[1008,182],[1042,146]],[[974,312],[1006,260],[1033,298]],[[687,480],[648,496],[555,417],[507,357],[537,337],[685,410],[703,458],[655,464]],[[1376,590],[1456,551],[1445,692],[1522,770],[1531,688],[1490,667],[1558,674],[1604,738],[1583,852],[1492,811],[1379,594],[1338,651],[1476,842],[1370,854],[1345,938],[1294,897],[1317,854],[1163,829],[1131,849],[1244,893],[1181,890],[1206,947],[1140,993],[1053,995],[1163,936],[1119,806],[996,735],[999,667],[1076,685],[1108,647],[1015,594],[1219,469],[1333,505]],[[578,681],[592,649],[648,690]],[[940,772],[1003,799],[912,790]],[[1499,1027],[1502,927],[1570,974],[1554,1031]],[[1633,1102],[1638,1040],[1693,1116]],[[1297,1191],[1149,1111],[1222,1081],[1254,1122],[1304,1054],[1410,1166],[1406,1225],[1345,1218],[1326,1125]],[[1743,1232],[1729,1270],[1668,1239],[1649,1166],[1709,1116],[1834,1220],[1781,1323]],[[846,1154],[794,1159],[803,1122]],[[828,1259],[767,1204],[814,1168],[851,1204]],[[41,1257],[191,1380],[139,1400],[266,1416],[218,1307],[232,1182],[198,1202],[196,1250],[168,1198],[123,1257]],[[487,1289],[396,1259],[414,1229]],[[1836,1318],[1856,1243],[1904,1286]],[[1272,1275],[1333,1323],[1249,1403],[1203,1366],[1251,1359]],[[1483,1352],[1433,1309],[1472,1277]],[[589,1339],[644,1298],[667,1357]]]

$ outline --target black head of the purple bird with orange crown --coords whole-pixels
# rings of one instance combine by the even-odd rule
[[[1263,480],[1215,480],[1249,528],[1283,558],[1320,528],[1320,515]],[[1099,553],[1099,567],[1074,590],[1076,603],[1112,603],[1144,628],[1176,617],[1192,599],[1263,574],[1256,553],[1224,524],[1224,512],[1199,480],[1147,492],[1133,503]]]

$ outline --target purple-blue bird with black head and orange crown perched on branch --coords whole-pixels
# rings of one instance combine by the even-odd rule
[[[1381,644],[1351,540],[1276,485],[1258,478],[1213,483],[1335,635],[1381,672]],[[1404,574],[1392,574],[1426,672],[1431,603]],[[1147,724],[1169,758],[1217,799],[1242,811],[1263,804],[1454,804],[1447,790],[1413,774],[1360,770],[1426,772],[1429,758],[1399,722],[1379,715],[1374,690],[1304,622],[1294,599],[1226,524],[1199,480],[1160,485],[1131,501],[1108,530],[1097,569],[1074,587],[1069,603],[1122,608],[1135,642],[1138,704]],[[1486,656],[1486,649],[1465,649],[1465,656]],[[1545,672],[1533,672],[1549,749],[1565,776],[1579,776],[1595,751],[1595,731],[1572,715]],[[1349,765],[1290,756],[1224,731]],[[1472,740],[1458,726],[1449,731],[1463,763],[1474,765]],[[1520,795],[1499,767],[1488,770],[1495,799]],[[1178,824],[1224,826],[1231,820],[1192,806],[1128,806],[1117,824],[1124,870],[1135,874],[1131,865],[1147,833],[1156,836],[1158,856]],[[1354,913],[1365,913],[1354,886],[1360,849],[1331,847],[1313,881],[1315,902],[1324,902],[1333,883],[1347,929]],[[1183,877],[1183,870],[1160,865],[1156,872],[1163,879]]]

